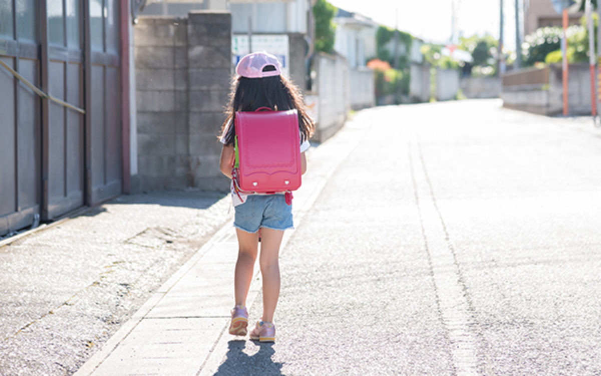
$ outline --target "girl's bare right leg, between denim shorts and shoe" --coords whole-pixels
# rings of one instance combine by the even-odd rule
[[[261,274],[263,275],[263,321],[273,322],[279,298],[279,245],[284,231],[261,229]]]

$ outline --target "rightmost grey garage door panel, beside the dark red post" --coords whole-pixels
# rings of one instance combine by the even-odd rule
[[[87,202],[121,194],[119,0],[90,0],[86,17]]]

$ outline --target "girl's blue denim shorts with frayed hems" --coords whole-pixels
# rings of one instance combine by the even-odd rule
[[[292,205],[286,203],[283,194],[249,194],[246,202],[234,207],[234,227],[255,233],[260,227],[273,230],[294,228]]]

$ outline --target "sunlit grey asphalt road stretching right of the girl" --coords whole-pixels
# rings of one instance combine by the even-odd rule
[[[601,375],[601,132],[500,104],[359,112],[217,374]]]

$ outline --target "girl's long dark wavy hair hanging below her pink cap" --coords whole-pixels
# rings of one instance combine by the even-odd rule
[[[274,69],[273,66],[266,66],[263,70]],[[296,109],[299,115],[301,141],[309,140],[313,135],[315,123],[307,114],[301,90],[284,76],[277,75],[264,78],[239,77],[234,79],[230,102],[225,110],[227,117],[221,126],[219,138],[225,137],[226,145],[233,144],[236,135],[234,127],[236,111],[255,111],[260,107],[269,107],[275,111]],[[231,126],[229,126],[230,124]]]

